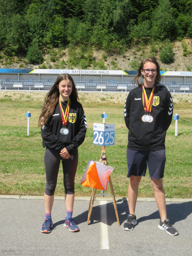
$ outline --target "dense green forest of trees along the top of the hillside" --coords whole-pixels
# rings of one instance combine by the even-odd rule
[[[192,0],[0,0],[0,7],[0,51],[31,63],[61,45],[123,52],[135,40],[192,37]]]

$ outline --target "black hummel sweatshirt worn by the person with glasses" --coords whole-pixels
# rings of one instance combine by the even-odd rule
[[[145,88],[149,99],[152,88]],[[153,122],[143,122],[145,115],[142,101],[142,87],[136,87],[127,96],[124,107],[125,124],[129,129],[128,145],[132,150],[155,151],[165,149],[166,130],[171,124],[173,101],[170,92],[163,85],[154,90],[151,116]]]

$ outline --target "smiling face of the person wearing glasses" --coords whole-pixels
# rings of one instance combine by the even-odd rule
[[[143,65],[143,69],[156,69],[157,70],[157,66],[153,63],[153,62],[146,62]],[[153,87],[155,84],[155,77],[157,75],[157,72],[154,74],[152,73],[152,71],[150,71],[149,73],[145,73],[145,71],[141,69],[141,74],[143,75],[144,78],[144,84],[146,87]]]

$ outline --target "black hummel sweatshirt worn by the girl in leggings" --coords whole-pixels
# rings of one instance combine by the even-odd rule
[[[62,108],[66,110],[67,102],[61,101]],[[53,115],[46,125],[41,128],[43,148],[51,148],[61,151],[66,148],[69,154],[80,146],[86,135],[87,122],[81,103],[75,100],[70,101],[69,119],[67,128],[69,134],[62,135],[60,129],[63,127],[59,103],[56,105]]]

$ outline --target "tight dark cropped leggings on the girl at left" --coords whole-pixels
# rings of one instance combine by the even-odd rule
[[[74,150],[69,159],[60,156],[59,151],[46,148],[44,154],[44,164],[46,173],[45,194],[54,195],[60,162],[63,166],[63,184],[65,194],[74,194],[74,180],[78,164],[78,149]]]

